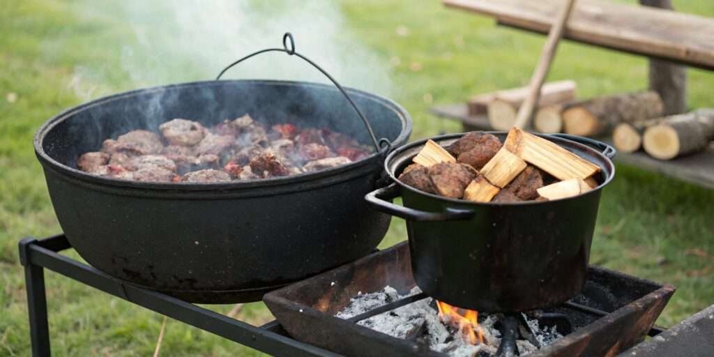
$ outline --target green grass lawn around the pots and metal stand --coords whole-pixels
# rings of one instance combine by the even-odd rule
[[[137,79],[136,73],[120,66],[125,53],[116,46],[136,41],[134,32],[114,16],[116,4],[89,4],[94,6],[11,0],[0,11],[0,356],[29,354],[17,241],[60,231],[34,159],[31,141],[36,128],[89,98],[136,86],[206,79],[206,69],[196,68],[196,62],[185,56],[172,61],[171,54],[176,53],[171,51],[161,52],[162,61],[171,64],[161,76]],[[675,1],[675,6],[714,16],[714,4],[708,1]],[[348,0],[340,7],[346,34],[389,68],[391,96],[414,119],[412,139],[459,130],[453,122],[430,116],[427,109],[432,104],[526,84],[543,44],[540,36],[495,27],[484,17],[443,9],[438,1],[419,1],[416,6],[415,1]],[[260,10],[273,11],[265,6]],[[148,24],[148,31],[156,30],[161,21]],[[408,36],[399,36],[398,26],[406,26]],[[266,43],[272,45],[272,40]],[[319,53],[308,55],[319,62]],[[161,63],[150,56],[141,60]],[[548,79],[575,79],[579,95],[592,96],[641,89],[646,70],[646,61],[637,56],[564,43]],[[690,106],[714,106],[713,86],[714,74],[689,71]],[[17,100],[7,101],[9,93]],[[665,326],[713,303],[714,192],[625,166],[618,166],[617,175],[603,195],[592,262],[677,286],[659,321]],[[405,236],[403,222],[395,220],[383,246]],[[47,273],[46,281],[56,356],[153,352],[161,316],[55,273]],[[226,313],[231,306],[211,308]],[[248,305],[243,316],[251,323],[270,318],[261,303]],[[162,354],[258,353],[169,321]]]

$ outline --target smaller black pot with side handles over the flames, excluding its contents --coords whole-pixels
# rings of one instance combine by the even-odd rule
[[[433,140],[446,146],[461,135]],[[414,279],[422,291],[462,308],[501,312],[553,306],[583,288],[600,192],[615,176],[615,149],[577,136],[540,136],[600,166],[599,186],[555,201],[476,203],[398,181],[425,141],[387,157],[384,166],[395,183],[366,200],[406,219]],[[390,203],[398,196],[404,206]]]

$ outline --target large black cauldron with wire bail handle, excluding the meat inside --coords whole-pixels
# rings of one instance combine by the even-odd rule
[[[288,45],[266,51],[304,59]],[[388,147],[406,143],[411,118],[393,101],[336,86],[203,81],[116,94],[64,111],[34,140],[62,229],[99,270],[201,303],[256,301],[365,256],[391,217],[370,209],[363,196],[378,187]],[[146,183],[75,169],[79,155],[129,130],[156,131],[173,118],[211,126],[246,113],[268,125],[289,121],[340,131],[377,146],[376,152],[335,169],[231,183]]]

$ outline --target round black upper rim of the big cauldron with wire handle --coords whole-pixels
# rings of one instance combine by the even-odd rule
[[[191,81],[191,82],[184,82],[184,83],[178,83],[178,84],[168,84],[164,86],[153,86],[149,88],[141,88],[141,89],[134,89],[132,91],[125,91],[121,92],[118,94],[111,94],[109,96],[104,96],[99,99],[94,99],[91,101],[87,101],[83,104],[79,104],[78,106],[71,107],[70,109],[66,109],[62,111],[61,113],[57,114],[56,116],[53,116],[51,119],[46,121],[40,128],[36,131],[36,134],[34,136],[34,149],[35,149],[35,154],[41,164],[43,166],[46,166],[48,169],[52,169],[54,171],[58,171],[59,173],[63,174],[64,176],[69,176],[71,178],[78,178],[80,181],[83,183],[86,183],[91,186],[104,186],[106,188],[115,188],[115,189],[126,189],[126,188],[137,188],[141,189],[144,192],[149,191],[154,191],[156,193],[161,193],[161,192],[176,192],[176,191],[215,191],[215,190],[235,190],[235,189],[255,189],[255,188],[262,188],[262,187],[275,187],[275,186],[285,186],[285,185],[290,185],[294,186],[295,183],[301,183],[301,182],[310,182],[310,181],[316,181],[319,178],[328,178],[331,176],[337,176],[341,175],[343,173],[346,173],[348,171],[353,171],[355,174],[357,174],[356,171],[359,171],[360,174],[363,174],[362,169],[366,169],[366,167],[363,166],[372,166],[376,164],[376,166],[379,166],[381,163],[381,157],[383,157],[384,153],[383,152],[375,152],[369,156],[366,156],[363,159],[360,159],[358,161],[354,161],[351,164],[343,165],[343,166],[338,166],[333,169],[326,169],[322,171],[317,171],[317,172],[312,172],[312,173],[304,173],[304,174],[296,174],[296,175],[290,175],[290,176],[284,176],[284,177],[277,177],[277,178],[260,178],[260,179],[255,179],[255,180],[244,180],[244,181],[231,181],[228,183],[191,183],[191,182],[141,182],[141,181],[131,181],[131,180],[124,180],[124,179],[119,179],[119,178],[106,178],[103,176],[94,176],[91,174],[88,174],[84,171],[81,171],[79,169],[72,168],[70,166],[66,166],[64,164],[61,164],[59,161],[56,161],[53,159],[49,154],[47,154],[44,150],[43,144],[44,144],[44,139],[49,134],[49,132],[54,129],[55,126],[63,123],[64,121],[71,120],[71,118],[80,113],[81,111],[88,110],[94,106],[99,106],[99,105],[104,105],[110,101],[115,101],[115,100],[120,100],[120,99],[126,99],[130,98],[131,96],[138,96],[141,94],[147,94],[150,93],[151,91],[165,91],[166,89],[180,89],[181,87],[191,87],[191,86],[227,86],[231,84],[267,84],[267,85],[273,85],[273,86],[301,86],[301,87],[312,87],[315,89],[321,89],[321,90],[328,90],[328,91],[337,91],[337,89],[334,86],[328,85],[328,84],[321,84],[321,83],[314,83],[314,82],[308,82],[308,81],[283,81],[283,80],[273,80],[273,79],[233,79],[233,80],[221,80],[221,81]],[[378,105],[384,106],[387,109],[393,111],[394,114],[396,114],[397,118],[401,122],[401,131],[394,138],[391,140],[391,144],[393,144],[393,148],[396,147],[398,144],[403,143],[408,139],[408,136],[411,134],[412,130],[412,120],[411,116],[408,114],[408,111],[404,109],[401,105],[397,104],[395,101],[392,101],[391,99],[388,99],[383,96],[379,96],[378,94],[372,94],[367,91],[362,91],[359,89],[353,89],[351,87],[343,87],[345,91],[348,92],[350,96],[354,97],[361,97],[363,99],[367,99],[370,101],[375,101]],[[397,144],[397,145],[394,145]],[[358,174],[359,175],[359,174]],[[349,177],[344,177],[344,178],[351,178],[353,175],[348,175]],[[69,178],[68,177],[68,178]]]

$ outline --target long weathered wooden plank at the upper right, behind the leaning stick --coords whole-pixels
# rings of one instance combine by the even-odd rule
[[[443,0],[457,9],[493,16],[499,24],[547,34],[562,0]],[[648,6],[581,0],[565,39],[714,69],[714,19]]]

